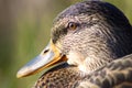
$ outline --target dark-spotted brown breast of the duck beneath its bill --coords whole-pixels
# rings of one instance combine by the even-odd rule
[[[59,66],[57,69],[55,68],[43,74],[35,84],[35,88],[69,88],[69,86],[80,78],[77,67],[69,66],[62,68]]]

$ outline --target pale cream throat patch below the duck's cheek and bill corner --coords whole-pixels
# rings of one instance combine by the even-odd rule
[[[80,74],[85,76],[92,73],[94,70],[101,68],[113,59],[110,54],[100,54],[101,52],[98,54],[89,54],[87,56],[84,56],[77,52],[69,52],[67,55],[67,63],[69,65],[76,65]]]

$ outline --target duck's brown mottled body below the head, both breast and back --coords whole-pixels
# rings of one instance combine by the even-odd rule
[[[132,88],[132,54],[87,76],[66,63],[43,74],[34,88]]]

